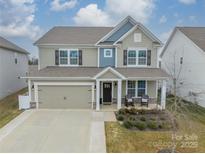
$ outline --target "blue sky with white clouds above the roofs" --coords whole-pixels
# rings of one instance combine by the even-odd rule
[[[205,0],[0,0],[0,35],[38,57],[54,26],[115,26],[127,15],[166,42],[175,26],[205,26]]]

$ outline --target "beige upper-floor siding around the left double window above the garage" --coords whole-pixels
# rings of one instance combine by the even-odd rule
[[[74,46],[66,46],[66,47],[60,47],[60,46],[45,46],[45,47],[39,47],[39,64],[40,69],[45,68],[47,66],[55,66],[55,50],[56,49],[79,49],[82,50],[82,59],[83,59],[83,65],[87,67],[97,67],[97,48],[79,48]]]

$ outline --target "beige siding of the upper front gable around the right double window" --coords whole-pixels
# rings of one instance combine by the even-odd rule
[[[134,42],[134,33],[141,33],[141,42]],[[133,33],[129,34],[122,44],[117,48],[117,66],[124,67],[123,65],[123,50],[128,48],[147,48],[151,50],[151,66],[157,67],[157,47],[154,47],[153,41],[147,37],[141,30],[136,29]]]

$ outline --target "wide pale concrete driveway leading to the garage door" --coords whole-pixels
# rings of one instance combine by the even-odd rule
[[[0,140],[0,152],[90,152],[92,116],[89,110],[33,111]]]

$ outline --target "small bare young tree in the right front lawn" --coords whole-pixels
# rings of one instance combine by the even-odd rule
[[[170,86],[170,90],[171,93],[173,94],[172,97],[167,98],[167,102],[170,102],[170,112],[168,111],[171,121],[172,121],[172,125],[173,125],[173,132],[172,132],[172,142],[173,142],[173,146],[172,146],[172,152],[176,151],[176,145],[177,145],[177,141],[176,141],[176,133],[177,133],[177,123],[176,123],[176,119],[179,117],[183,117],[185,120],[187,119],[186,114],[184,114],[184,112],[182,110],[187,110],[186,106],[184,104],[183,98],[180,97],[179,95],[179,89],[183,87],[185,80],[183,79],[181,73],[182,70],[184,69],[184,65],[183,65],[183,60],[184,60],[184,56],[183,56],[184,50],[182,51],[182,56],[179,58],[179,56],[177,55],[178,52],[177,50],[175,50],[175,52],[173,53],[172,56],[169,56],[169,61],[171,61],[169,64],[166,63],[166,61],[164,62],[164,67],[165,70],[167,71],[167,73],[170,75],[170,80],[169,80],[169,84]],[[187,120],[186,120],[187,121]]]

